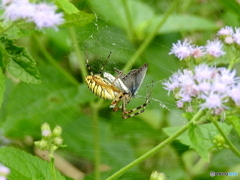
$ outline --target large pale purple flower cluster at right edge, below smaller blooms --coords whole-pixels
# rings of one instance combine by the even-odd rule
[[[235,71],[226,68],[201,64],[193,71],[179,70],[163,85],[169,93],[175,94],[179,108],[194,101],[200,103],[201,109],[212,109],[213,113],[220,114],[228,108],[230,100],[240,106],[240,83],[235,75]]]

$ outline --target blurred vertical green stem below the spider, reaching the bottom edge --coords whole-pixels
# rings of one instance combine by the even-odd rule
[[[99,123],[98,123],[98,110],[99,110],[99,103],[92,103],[91,104],[91,120],[92,120],[92,127],[94,133],[94,179],[100,180],[100,164],[101,164],[101,148],[100,148],[100,139],[99,139]]]

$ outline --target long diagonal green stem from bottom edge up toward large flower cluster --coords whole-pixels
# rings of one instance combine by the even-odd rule
[[[138,159],[134,160],[133,162],[131,162],[130,164],[126,165],[125,167],[123,167],[122,169],[120,169],[119,171],[117,171],[116,173],[114,173],[113,175],[111,175],[110,177],[108,177],[106,180],[113,180],[118,178],[119,176],[121,176],[122,174],[124,174],[126,171],[128,171],[129,169],[131,169],[132,167],[136,166],[137,164],[143,162],[145,159],[147,159],[148,157],[154,155],[155,153],[157,153],[160,149],[162,149],[163,147],[165,147],[167,144],[171,143],[172,141],[174,141],[178,136],[180,136],[181,134],[183,134],[188,128],[189,125],[191,123],[194,123],[195,121],[197,121],[201,115],[203,114],[202,110],[199,110],[198,113],[192,118],[191,121],[189,121],[186,125],[184,125],[183,127],[181,127],[177,132],[175,132],[172,136],[170,136],[169,138],[167,138],[165,141],[163,141],[162,143],[160,143],[159,145],[157,145],[156,147],[154,147],[153,149],[151,149],[150,151],[148,151],[147,153],[143,154],[142,156],[140,156]]]

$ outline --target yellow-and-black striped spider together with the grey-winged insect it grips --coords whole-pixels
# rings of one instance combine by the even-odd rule
[[[143,113],[148,103],[150,103],[149,98],[151,93],[147,94],[144,104],[134,109],[127,110],[126,105],[131,101],[132,97],[135,97],[137,90],[141,86],[148,68],[148,64],[143,64],[143,66],[140,68],[133,69],[126,75],[122,71],[114,68],[115,72],[117,73],[117,76],[114,77],[110,73],[102,72],[104,66],[110,58],[110,55],[111,52],[101,67],[99,74],[93,74],[87,57],[86,66],[90,71],[90,75],[85,77],[85,83],[87,84],[88,88],[98,97],[112,100],[110,108],[113,108],[113,111],[118,111],[121,109],[123,119]],[[122,104],[120,105],[121,101]]]

